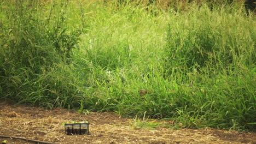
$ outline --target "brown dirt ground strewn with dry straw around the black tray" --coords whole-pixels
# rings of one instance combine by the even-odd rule
[[[7,103],[0,103],[0,108],[0,135],[50,143],[256,143],[256,133],[217,129],[174,130],[162,126],[136,128],[134,119],[109,112],[80,115],[75,110],[45,110]],[[89,121],[90,135],[66,135],[62,123],[71,121]],[[171,121],[161,123],[172,125]],[[0,137],[0,142],[3,140],[7,140],[7,144],[34,143]]]

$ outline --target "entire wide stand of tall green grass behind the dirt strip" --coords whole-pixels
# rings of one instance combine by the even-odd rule
[[[238,3],[40,4],[2,4],[1,99],[254,129],[255,17]]]

